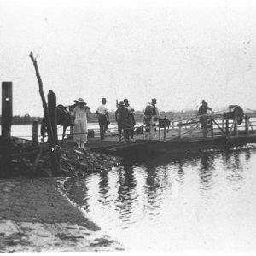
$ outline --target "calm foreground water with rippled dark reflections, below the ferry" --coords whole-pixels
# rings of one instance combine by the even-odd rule
[[[133,160],[66,186],[128,249],[255,249],[256,149]]]

